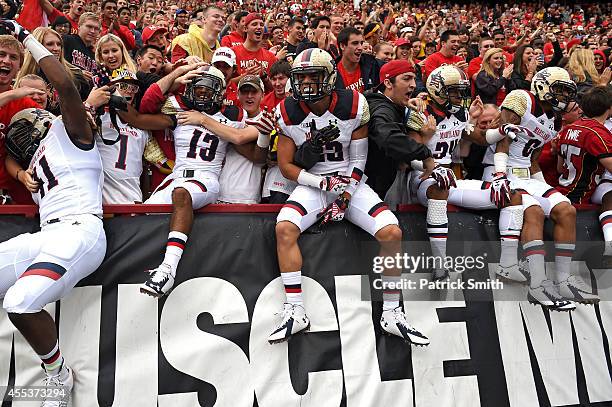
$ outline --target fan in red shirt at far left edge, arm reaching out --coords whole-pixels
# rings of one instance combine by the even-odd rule
[[[13,116],[30,107],[40,107],[27,96],[40,95],[44,92],[33,88],[13,89],[11,84],[23,61],[21,44],[10,35],[0,35],[0,64],[8,68],[8,73],[0,73],[0,205],[11,203],[34,204],[32,195],[15,180],[15,174],[9,174],[4,165],[6,147],[5,131]]]

